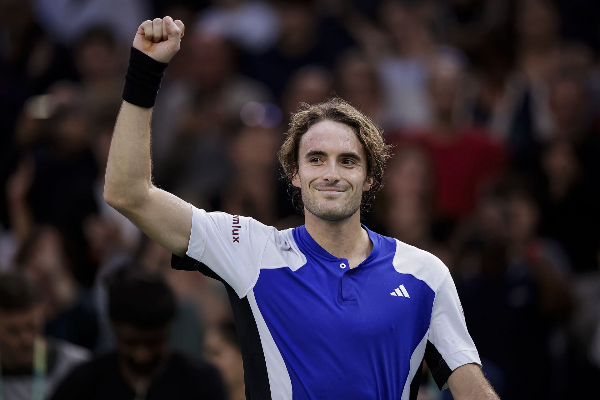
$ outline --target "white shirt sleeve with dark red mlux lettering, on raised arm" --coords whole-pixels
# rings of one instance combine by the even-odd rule
[[[197,262],[191,266],[177,262],[173,267],[200,269],[202,263],[239,297],[245,296],[259,274],[266,243],[277,235],[277,230],[247,216],[191,207],[190,244],[185,254]]]

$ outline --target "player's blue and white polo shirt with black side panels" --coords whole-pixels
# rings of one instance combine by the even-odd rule
[[[192,210],[190,245],[173,267],[225,284],[248,399],[410,400],[424,359],[440,389],[458,366],[481,365],[434,255],[363,226],[373,251],[350,269],[304,225]]]

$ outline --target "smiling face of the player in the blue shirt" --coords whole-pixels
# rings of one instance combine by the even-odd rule
[[[352,129],[340,122],[321,121],[302,136],[298,173],[292,184],[300,188],[304,208],[326,221],[341,221],[361,207],[370,189],[364,146]]]

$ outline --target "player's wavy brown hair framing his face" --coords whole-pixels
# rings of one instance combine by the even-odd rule
[[[362,193],[361,212],[368,211],[375,195],[383,187],[383,175],[386,163],[391,157],[391,145],[383,142],[383,130],[355,107],[339,97],[330,98],[325,103],[301,103],[301,107],[292,115],[286,140],[279,149],[278,157],[283,167],[283,179],[289,185],[287,193],[299,212],[304,212],[300,188],[292,185],[293,177],[298,173],[298,151],[300,140],[308,129],[321,121],[341,122],[348,125],[358,136],[367,153],[367,178],[373,183],[368,191]]]

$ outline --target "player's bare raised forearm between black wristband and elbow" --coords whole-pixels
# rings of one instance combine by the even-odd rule
[[[104,199],[112,206],[139,203],[152,187],[151,115],[151,108],[122,103],[104,181]]]

